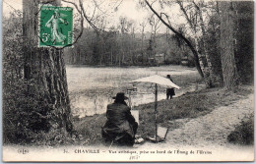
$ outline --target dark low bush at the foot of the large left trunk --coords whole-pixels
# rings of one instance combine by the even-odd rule
[[[28,94],[28,85],[33,82],[3,77],[4,143],[31,142],[33,133],[49,130],[47,113],[43,112],[48,106],[37,103],[40,97],[36,93]]]

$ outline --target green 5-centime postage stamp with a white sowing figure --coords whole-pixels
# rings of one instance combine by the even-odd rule
[[[64,47],[73,42],[73,8],[41,6],[38,46]]]

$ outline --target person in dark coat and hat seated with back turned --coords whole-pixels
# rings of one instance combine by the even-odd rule
[[[131,108],[127,106],[128,99],[123,92],[113,97],[114,103],[107,105],[107,121],[102,127],[102,137],[106,142],[118,145],[132,146],[134,144],[138,123],[131,115]]]

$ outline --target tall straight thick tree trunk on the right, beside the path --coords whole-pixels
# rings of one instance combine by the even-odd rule
[[[234,19],[233,2],[220,2],[221,48],[224,86],[231,89],[237,85],[237,71],[234,59]]]

